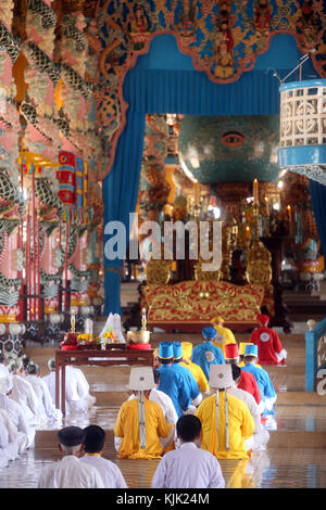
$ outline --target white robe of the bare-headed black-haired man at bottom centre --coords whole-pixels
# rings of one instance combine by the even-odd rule
[[[216,457],[195,443],[184,443],[160,460],[151,487],[224,488],[225,480]]]

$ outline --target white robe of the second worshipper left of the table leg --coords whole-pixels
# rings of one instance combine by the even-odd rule
[[[12,375],[12,396],[24,411],[26,419],[36,424],[38,419],[38,398],[33,390],[32,384],[21,375]]]

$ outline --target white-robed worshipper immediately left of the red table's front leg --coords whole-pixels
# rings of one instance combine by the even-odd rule
[[[39,401],[38,413],[41,419],[46,421],[61,421],[62,412],[60,409],[55,409],[50,391],[46,382],[40,378],[40,368],[33,361],[26,368],[26,381],[32,384],[36,393]]]

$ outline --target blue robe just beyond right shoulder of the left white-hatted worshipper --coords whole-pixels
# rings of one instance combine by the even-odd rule
[[[160,384],[158,390],[166,393],[172,399],[178,418],[184,416],[183,409],[186,411],[191,405],[190,386],[187,378],[178,370],[174,370],[170,365],[162,365],[159,368]]]

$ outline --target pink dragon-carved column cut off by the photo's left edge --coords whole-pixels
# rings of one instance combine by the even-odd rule
[[[0,317],[16,321],[22,284],[22,248],[18,226],[24,212],[16,161],[18,157],[20,114],[14,103],[13,65],[20,53],[11,33],[13,2],[0,4]]]

